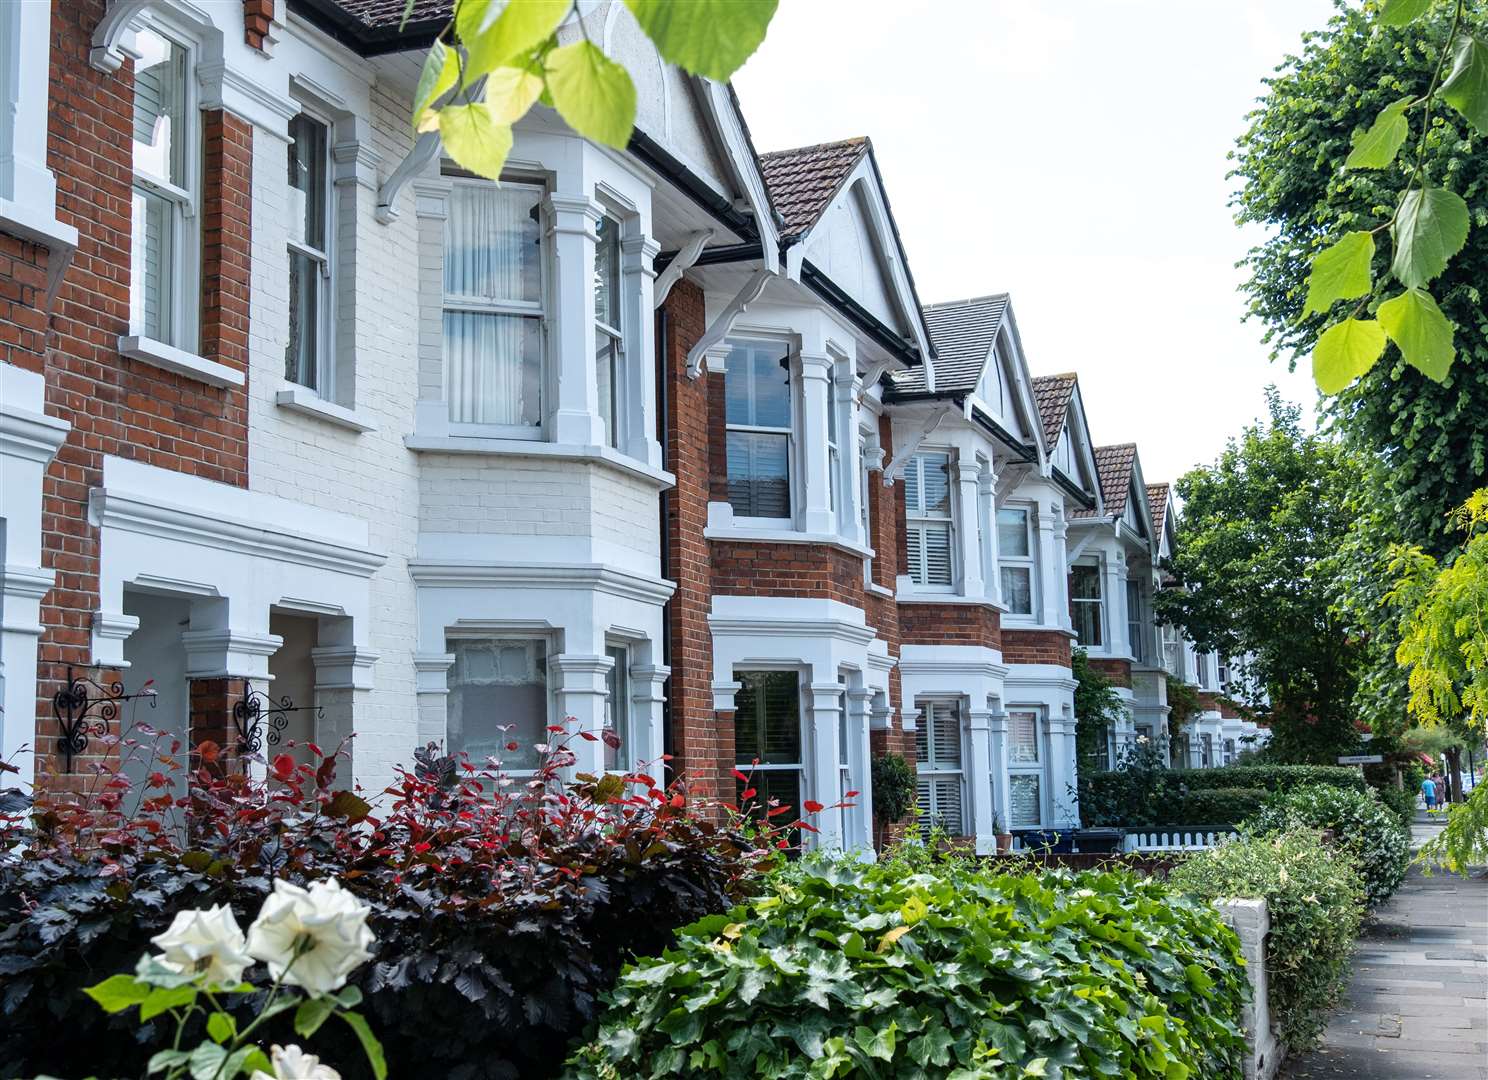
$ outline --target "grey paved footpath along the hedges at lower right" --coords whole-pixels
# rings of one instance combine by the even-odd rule
[[[1417,814],[1412,846],[1442,821]],[[1287,1080],[1488,1080],[1488,876],[1412,867],[1364,924],[1353,979],[1318,1049]]]

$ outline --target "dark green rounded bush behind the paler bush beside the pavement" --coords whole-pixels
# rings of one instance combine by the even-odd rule
[[[1411,866],[1411,832],[1370,791],[1341,787],[1301,787],[1266,803],[1245,821],[1254,833],[1286,829],[1329,829],[1354,860],[1370,906],[1394,894]]]

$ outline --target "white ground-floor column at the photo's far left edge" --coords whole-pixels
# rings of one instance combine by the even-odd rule
[[[15,12],[0,16],[0,25],[4,18]],[[55,580],[42,568],[42,478],[70,430],[45,415],[45,397],[40,375],[0,364],[0,760],[21,769],[0,774],[0,785],[28,787],[36,768],[31,754],[18,751],[36,745],[36,644],[42,598]]]

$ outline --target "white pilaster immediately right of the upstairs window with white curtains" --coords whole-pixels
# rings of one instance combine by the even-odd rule
[[[604,210],[586,195],[548,196],[554,251],[554,309],[548,357],[552,363],[546,436],[549,442],[604,445],[600,387],[594,373],[594,247]],[[649,363],[650,357],[641,357]]]

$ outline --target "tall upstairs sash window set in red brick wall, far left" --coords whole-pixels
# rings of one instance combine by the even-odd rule
[[[129,332],[196,351],[195,144],[186,49],[155,30],[135,34],[134,181],[129,220]]]

